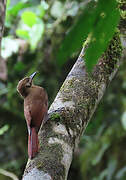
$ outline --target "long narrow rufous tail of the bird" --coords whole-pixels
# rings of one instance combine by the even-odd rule
[[[34,158],[38,152],[38,134],[34,127],[30,128],[28,136],[28,156]]]

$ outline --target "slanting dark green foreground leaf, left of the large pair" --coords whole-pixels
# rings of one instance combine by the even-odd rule
[[[65,36],[57,53],[57,62],[59,66],[62,66],[68,57],[82,47],[84,39],[87,38],[88,33],[91,31],[93,26],[93,22],[95,21],[94,6],[94,1],[88,3],[76,24]]]

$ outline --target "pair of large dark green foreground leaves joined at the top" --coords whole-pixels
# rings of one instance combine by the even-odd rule
[[[79,50],[90,33],[91,41],[85,53],[85,60],[88,71],[91,71],[107,48],[118,22],[119,10],[115,0],[109,0],[107,3],[105,0],[88,3],[58,50],[58,64],[62,66],[68,57]]]

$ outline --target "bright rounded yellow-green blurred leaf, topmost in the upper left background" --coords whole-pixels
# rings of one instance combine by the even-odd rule
[[[21,16],[21,19],[23,20],[24,24],[27,24],[29,27],[32,27],[37,23],[37,16],[32,11],[24,12]]]

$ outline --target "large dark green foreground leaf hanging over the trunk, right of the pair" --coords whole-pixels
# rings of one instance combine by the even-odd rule
[[[92,37],[85,53],[85,61],[90,72],[98,58],[106,50],[119,22],[119,10],[115,0],[98,1],[97,18],[92,28]]]

